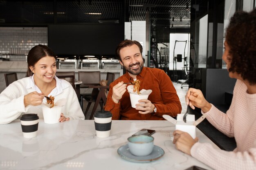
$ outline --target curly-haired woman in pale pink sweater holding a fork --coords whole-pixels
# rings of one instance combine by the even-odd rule
[[[231,152],[200,143],[188,133],[173,132],[173,144],[216,170],[256,170],[256,9],[237,12],[231,18],[222,59],[229,77],[236,78],[234,95],[227,114],[206,101],[200,90],[189,88],[186,103],[202,109],[207,120],[229,137],[237,148]]]

